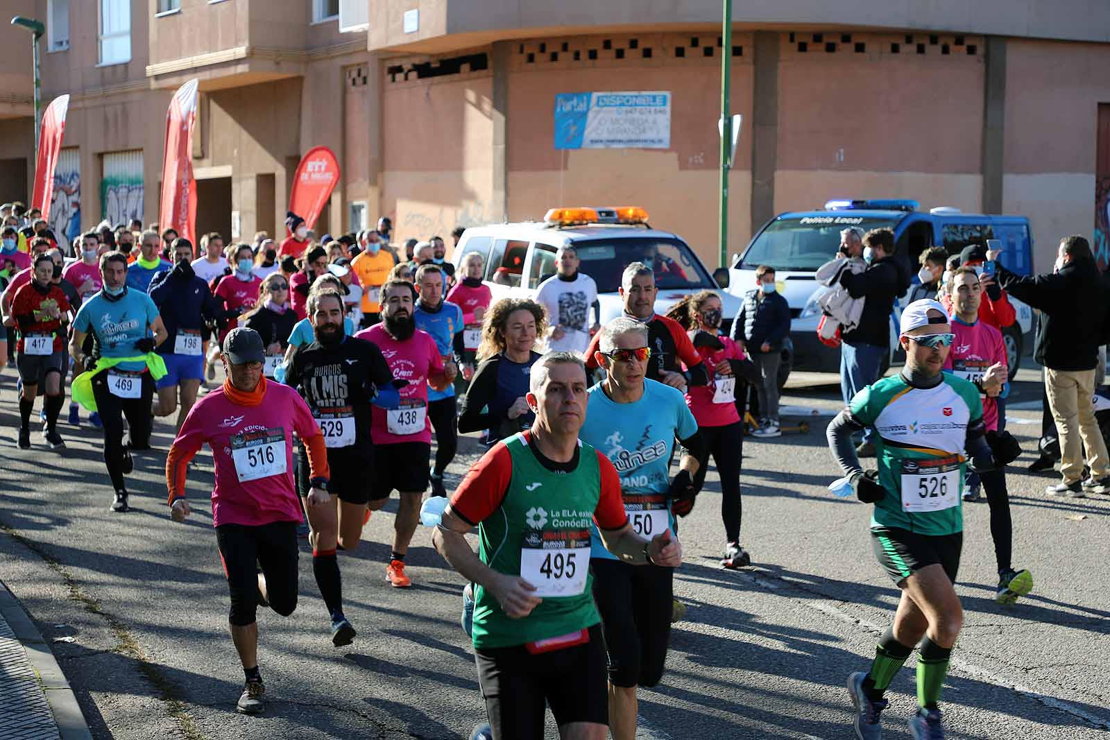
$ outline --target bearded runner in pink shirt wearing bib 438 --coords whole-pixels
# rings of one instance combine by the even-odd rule
[[[382,286],[382,323],[355,334],[379,346],[394,377],[408,381],[395,408],[372,409],[371,438],[377,448],[370,510],[385,506],[396,489],[401,506],[393,521],[393,550],[385,578],[394,588],[412,586],[405,575],[405,553],[420,521],[421,498],[427,488],[432,457],[427,388],[442,391],[455,379],[453,366],[444,367],[435,339],[416,328],[413,304],[416,291],[408,283],[390,281]]]

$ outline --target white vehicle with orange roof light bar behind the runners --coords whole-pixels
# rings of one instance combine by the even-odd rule
[[[581,260],[578,270],[597,284],[602,324],[622,314],[617,288],[622,273],[633,262],[655,271],[658,314],[665,314],[685,295],[716,291],[726,322],[722,331],[727,333],[740,310],[740,301],[719,290],[689,245],[677,234],[652,229],[647,212],[638,206],[557,207],[543,221],[471,226],[463,232],[453,260],[461,272],[465,255],[481,254],[483,282],[494,301],[534,298],[539,284],[555,274],[555,251],[564,245],[574,246]]]

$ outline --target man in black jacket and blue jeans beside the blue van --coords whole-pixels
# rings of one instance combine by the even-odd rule
[[[858,229],[840,234],[837,259],[862,255],[867,270],[856,274],[845,270],[840,285],[854,298],[864,298],[859,325],[845,332],[840,344],[840,393],[848,405],[857,393],[879,378],[882,358],[890,352],[890,314],[895,301],[909,287],[909,275],[894,260],[895,233],[889,229],[872,229],[862,240]],[[867,427],[856,453],[872,457],[874,427]]]

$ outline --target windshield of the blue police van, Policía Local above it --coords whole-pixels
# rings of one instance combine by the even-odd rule
[[[894,229],[898,221],[837,213],[781,216],[767,225],[734,267],[755,270],[767,264],[779,271],[813,272],[836,256],[841,230]]]

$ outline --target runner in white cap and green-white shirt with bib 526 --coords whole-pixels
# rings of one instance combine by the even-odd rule
[[[901,589],[870,670],[848,677],[861,740],[881,737],[879,716],[888,703],[882,695],[918,641],[919,709],[910,733],[916,740],[944,738],[937,703],[963,622],[952,585],[963,544],[965,460],[982,473],[995,468],[996,457],[999,464],[1017,457],[1012,449],[1003,454],[1006,444],[996,445],[998,452],[988,445],[978,388],[942,372],[953,338],[942,305],[922,300],[906,306],[899,339],[906,366],[857,393],[826,433],[846,476],[837,484],[875,504],[871,546]],[[864,427],[875,429],[878,472],[865,473],[856,458],[851,435]]]

